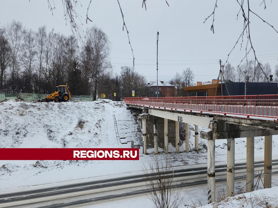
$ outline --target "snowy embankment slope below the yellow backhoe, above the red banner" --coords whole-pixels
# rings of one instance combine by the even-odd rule
[[[117,147],[112,114],[124,108],[105,104],[0,103],[0,148]]]

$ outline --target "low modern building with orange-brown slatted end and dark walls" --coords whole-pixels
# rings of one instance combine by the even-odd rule
[[[218,86],[217,86],[218,82]],[[245,84],[244,82],[231,82],[226,81],[230,95],[244,95]],[[223,95],[228,95],[224,81],[222,81]],[[207,82],[197,82],[196,85],[184,87],[187,96],[215,96],[217,87],[217,96],[221,95],[220,80],[213,79]],[[263,94],[277,94],[278,88],[275,82],[246,82],[246,95],[263,95]]]

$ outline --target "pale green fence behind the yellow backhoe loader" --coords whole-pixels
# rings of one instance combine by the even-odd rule
[[[25,101],[32,101],[45,98],[46,94],[34,94],[34,93],[2,93],[0,94],[0,101],[11,99],[17,99],[18,96],[22,97]],[[92,101],[92,97],[89,95],[72,95],[72,101]]]

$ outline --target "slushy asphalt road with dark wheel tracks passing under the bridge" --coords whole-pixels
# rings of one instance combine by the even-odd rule
[[[264,168],[263,161],[255,162],[255,173]],[[226,183],[226,166],[215,166],[216,184]],[[278,173],[278,160],[272,161],[273,174]],[[246,174],[246,164],[235,164],[235,179]],[[256,174],[255,174],[256,175]],[[156,176],[150,175],[155,178]],[[169,173],[173,177],[173,173]],[[256,179],[255,179],[256,180]],[[22,192],[14,192],[0,195],[0,207],[77,207],[79,205],[93,204],[98,201],[133,197],[148,193],[146,189],[147,179],[143,174],[109,178],[84,183],[62,185],[58,187],[43,188]],[[198,167],[175,171],[174,184],[177,187],[206,186],[207,168]]]

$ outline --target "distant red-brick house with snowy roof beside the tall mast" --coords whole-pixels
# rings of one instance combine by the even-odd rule
[[[156,81],[151,81],[147,83],[147,86],[151,88],[153,96],[156,96]],[[169,84],[168,82],[158,81],[158,96],[159,97],[173,97],[175,86]]]

